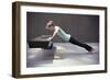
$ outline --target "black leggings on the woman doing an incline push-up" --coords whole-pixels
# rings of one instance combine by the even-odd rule
[[[69,43],[75,44],[75,45],[78,45],[78,46],[80,46],[80,47],[84,47],[84,48],[87,49],[88,52],[90,52],[90,50],[92,49],[92,47],[90,47],[89,45],[84,44],[84,43],[80,43],[80,42],[78,42],[77,39],[73,38],[72,36],[70,36]]]

